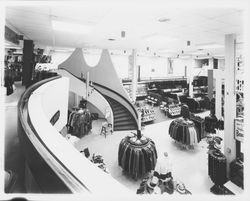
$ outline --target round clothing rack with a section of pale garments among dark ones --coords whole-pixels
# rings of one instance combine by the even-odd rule
[[[170,123],[169,135],[183,145],[195,145],[201,140],[194,122],[184,118],[175,119]]]

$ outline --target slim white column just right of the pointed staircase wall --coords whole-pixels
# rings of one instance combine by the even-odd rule
[[[130,57],[130,68],[132,72],[132,100],[136,101],[136,89],[137,89],[137,65],[136,65],[136,50],[132,50],[132,55]]]

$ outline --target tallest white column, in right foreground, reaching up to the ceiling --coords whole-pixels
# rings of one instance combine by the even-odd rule
[[[224,105],[224,154],[227,158],[227,173],[229,163],[236,158],[236,143],[234,139],[234,119],[236,117],[235,94],[235,49],[236,35],[225,36],[225,105]]]

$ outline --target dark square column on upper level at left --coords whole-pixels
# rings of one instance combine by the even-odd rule
[[[32,40],[24,40],[23,44],[23,81],[22,84],[28,87],[31,84],[34,65],[33,58],[34,44]]]

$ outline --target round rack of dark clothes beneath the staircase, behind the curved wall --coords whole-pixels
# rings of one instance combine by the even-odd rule
[[[91,114],[88,109],[74,110],[68,119],[68,132],[77,137],[82,137],[92,129]]]

